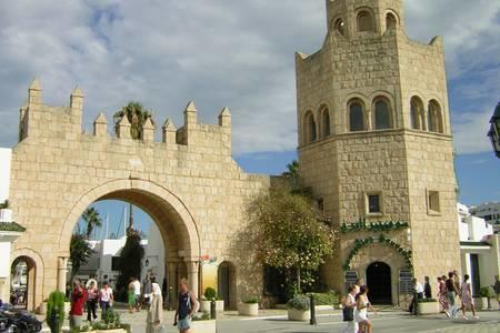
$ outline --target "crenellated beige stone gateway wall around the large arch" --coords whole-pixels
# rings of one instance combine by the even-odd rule
[[[93,133],[82,132],[83,93],[71,93],[70,107],[42,103],[40,83],[29,88],[21,108],[20,142],[12,151],[10,201],[16,220],[26,232],[14,243],[11,263],[30,258],[32,295],[28,309],[39,306],[56,289],[64,290],[71,233],[81,213],[93,202],[117,199],[147,212],[158,225],[166,246],[166,271],[171,286],[188,275],[199,293],[206,276],[201,258],[229,261],[241,270],[234,244],[236,228],[244,223],[249,198],[269,188],[269,178],[244,173],[231,159],[231,115],[219,114],[217,125],[197,122],[189,103],[184,124],[170,120],[162,127],[162,142],[154,142],[151,122],[142,140],[130,139],[130,123],[121,121],[110,135],[101,113]],[[232,300],[248,285],[239,279]],[[259,282],[249,282],[256,286]],[[217,285],[210,285],[217,286]]]

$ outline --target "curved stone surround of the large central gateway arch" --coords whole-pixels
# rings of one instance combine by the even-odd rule
[[[166,268],[169,289],[176,290],[178,274],[186,268],[186,278],[190,289],[198,294],[198,262],[200,258],[200,238],[198,226],[186,204],[163,186],[140,179],[116,180],[97,186],[83,194],[72,206],[59,235],[59,252],[69,256],[71,233],[82,212],[100,200],[121,200],[130,202],[146,213],[158,225],[166,246]],[[66,261],[60,263],[59,289],[66,284]],[[176,268],[172,269],[172,265]],[[64,283],[62,282],[64,281]]]

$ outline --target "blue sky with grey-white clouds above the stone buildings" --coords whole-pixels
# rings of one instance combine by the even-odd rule
[[[460,201],[500,201],[500,161],[486,137],[500,99],[500,1],[404,3],[410,38],[444,39]],[[227,105],[234,159],[280,173],[296,158],[294,52],[319,50],[326,29],[324,0],[2,1],[0,147],[16,144],[38,77],[49,104],[83,90],[87,130],[130,100],[177,127],[190,100],[204,123]]]

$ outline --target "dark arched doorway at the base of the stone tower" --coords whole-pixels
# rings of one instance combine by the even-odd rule
[[[392,304],[391,268],[374,262],[367,269],[368,299],[373,304]]]

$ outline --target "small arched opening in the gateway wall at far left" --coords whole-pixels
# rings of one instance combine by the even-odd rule
[[[34,309],[36,263],[18,256],[10,269],[10,300],[16,309]]]

